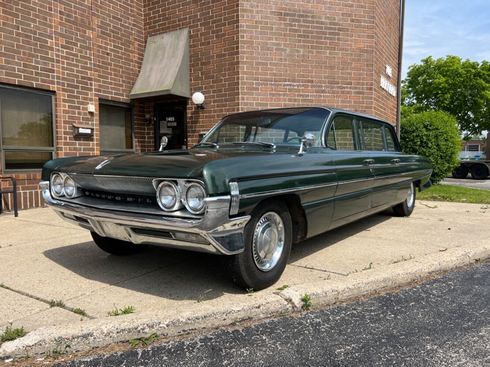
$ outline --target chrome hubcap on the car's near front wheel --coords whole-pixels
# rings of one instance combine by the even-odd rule
[[[253,259],[257,267],[268,272],[276,266],[284,247],[281,217],[270,211],[257,222],[253,233]]]

